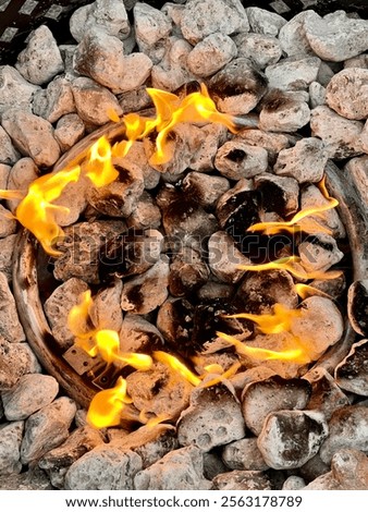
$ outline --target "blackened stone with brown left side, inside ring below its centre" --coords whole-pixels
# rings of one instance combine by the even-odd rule
[[[157,327],[163,338],[179,354],[195,353],[200,345],[193,345],[193,305],[185,298],[168,298],[159,308]]]

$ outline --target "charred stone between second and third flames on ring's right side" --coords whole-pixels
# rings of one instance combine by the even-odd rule
[[[249,272],[238,288],[237,304],[245,313],[271,313],[277,303],[290,309],[298,303],[293,278],[286,270]]]

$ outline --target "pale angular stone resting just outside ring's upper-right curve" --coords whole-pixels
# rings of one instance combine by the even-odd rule
[[[316,137],[305,137],[294,147],[282,149],[273,167],[275,174],[295,178],[299,183],[319,182],[324,173],[328,151]]]

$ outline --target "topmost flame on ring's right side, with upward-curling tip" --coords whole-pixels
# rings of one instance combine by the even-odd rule
[[[321,191],[323,197],[326,199],[328,199],[328,203],[326,203],[324,205],[314,206],[314,207],[310,206],[309,208],[305,208],[305,209],[298,211],[297,214],[295,214],[294,217],[289,221],[284,221],[284,222],[258,222],[256,224],[250,225],[250,228],[248,228],[247,231],[252,231],[252,232],[261,231],[265,234],[271,235],[271,234],[280,233],[281,231],[287,231],[287,232],[294,234],[295,230],[300,231],[300,229],[302,229],[306,233],[314,233],[316,231],[315,223],[314,222],[308,222],[307,218],[309,216],[320,216],[324,211],[328,211],[332,208],[335,208],[339,205],[338,199],[335,199],[334,197],[331,197],[329,195],[328,190],[326,188],[326,183],[324,182],[326,182],[326,178],[323,178],[317,185],[319,187],[319,190]],[[304,221],[303,225],[297,227],[296,224],[300,220]],[[331,230],[329,230],[327,228],[319,227],[318,230],[321,233],[331,234]]]

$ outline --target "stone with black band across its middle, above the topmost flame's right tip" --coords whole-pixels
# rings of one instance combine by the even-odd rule
[[[253,110],[267,90],[267,78],[250,60],[233,59],[208,82],[211,97],[219,110],[233,115]]]

